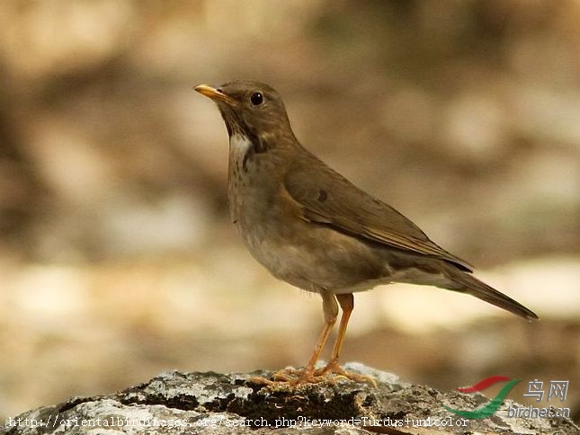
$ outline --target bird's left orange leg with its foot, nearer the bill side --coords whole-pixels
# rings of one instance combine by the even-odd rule
[[[333,326],[335,326],[336,317],[338,316],[338,304],[336,304],[335,295],[328,292],[326,289],[320,290],[320,296],[322,297],[322,310],[325,315],[325,327],[322,329],[322,332],[318,337],[317,347],[314,349],[310,360],[308,360],[307,366],[299,372],[290,372],[290,370],[285,369],[280,370],[274,373],[274,379],[287,380],[291,382],[291,377],[298,375],[298,383],[314,383],[321,380],[320,377],[315,376],[314,366],[317,364],[320,353],[328,341],[328,335],[330,335],[331,331],[333,330]]]

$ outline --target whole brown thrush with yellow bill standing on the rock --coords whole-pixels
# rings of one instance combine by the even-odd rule
[[[324,327],[304,368],[281,369],[271,382],[372,380],[340,366],[353,294],[395,282],[478,297],[528,321],[513,298],[477,280],[473,267],[435,244],[396,209],[362,191],[302,146],[281,95],[268,84],[235,80],[195,91],[217,103],[229,137],[228,202],[247,250],[272,275],[322,298]],[[335,344],[317,361],[339,314]]]

